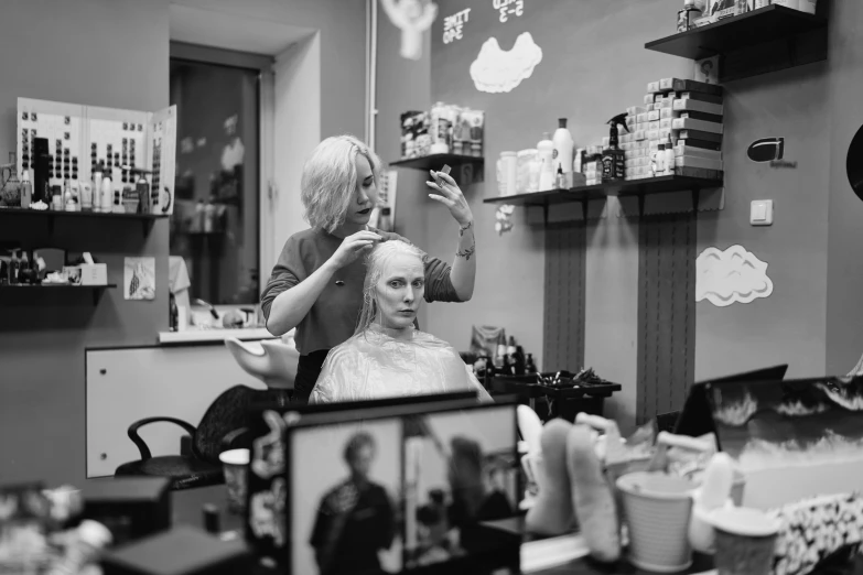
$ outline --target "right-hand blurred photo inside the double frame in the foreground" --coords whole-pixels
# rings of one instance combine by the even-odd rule
[[[406,424],[406,564],[485,551],[484,521],[517,509],[511,406],[427,415]]]

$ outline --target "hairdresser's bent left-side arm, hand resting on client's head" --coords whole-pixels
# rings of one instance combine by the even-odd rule
[[[291,273],[290,268],[283,265],[282,258],[280,258],[261,297],[263,313],[267,317],[267,329],[274,336],[282,336],[296,327],[321,296],[321,292],[332,280],[333,274],[367,253],[371,246],[379,240],[380,236],[371,231],[359,231],[348,236],[342,240],[336,252],[303,281],[296,281],[296,274]],[[287,248],[285,251],[288,251]],[[283,252],[282,257],[284,256]],[[273,293],[278,291],[279,286],[271,288],[271,285],[280,280],[283,283],[283,291],[273,297]]]

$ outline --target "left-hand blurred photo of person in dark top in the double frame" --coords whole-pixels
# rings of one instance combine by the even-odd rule
[[[292,435],[292,573],[400,571],[400,437],[399,420],[310,427]]]

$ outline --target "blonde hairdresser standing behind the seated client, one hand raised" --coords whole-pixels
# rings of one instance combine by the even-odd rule
[[[291,236],[261,294],[267,329],[280,336],[296,327],[300,364],[294,399],[305,403],[330,349],[356,328],[363,307],[364,256],[378,241],[403,239],[368,226],[378,200],[380,160],[350,135],[327,138],[303,166],[301,199],[310,229]],[[474,291],[476,243],[467,202],[447,174],[432,172],[430,197],[459,224],[452,268],[425,263],[427,302],[466,302]]]

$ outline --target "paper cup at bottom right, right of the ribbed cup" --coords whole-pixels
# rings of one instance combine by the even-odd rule
[[[716,532],[718,575],[767,575],[773,567],[779,521],[757,509],[732,507],[708,516]]]

